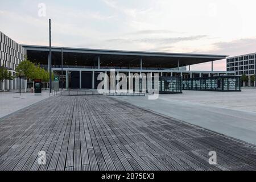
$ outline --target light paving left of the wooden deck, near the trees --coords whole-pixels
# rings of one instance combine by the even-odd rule
[[[18,92],[0,92],[0,118],[47,97],[49,97],[49,91],[44,90],[42,96],[35,96],[31,92],[21,93],[20,96]]]

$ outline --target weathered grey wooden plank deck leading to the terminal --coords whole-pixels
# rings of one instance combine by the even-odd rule
[[[0,119],[0,137],[0,170],[256,169],[252,144],[109,96],[47,98]]]

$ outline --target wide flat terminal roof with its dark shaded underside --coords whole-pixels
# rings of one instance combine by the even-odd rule
[[[48,46],[28,46],[28,59],[35,63],[48,64]],[[143,52],[143,51],[117,51],[107,49],[86,49],[52,47],[52,64],[61,65],[61,51],[63,51],[64,65],[93,66],[97,65],[100,56],[101,67],[140,67],[140,60],[143,60],[143,67],[147,68],[176,68],[178,60],[180,67],[206,63],[226,59],[226,55],[205,55],[195,53],[167,53],[167,52]]]

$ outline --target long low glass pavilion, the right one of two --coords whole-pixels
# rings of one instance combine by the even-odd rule
[[[187,78],[183,80],[182,85],[183,90],[241,91],[240,76]]]

